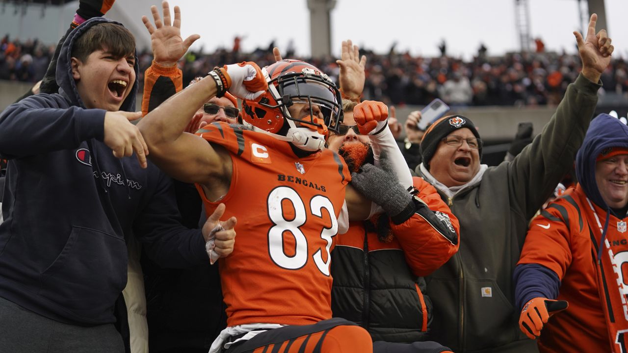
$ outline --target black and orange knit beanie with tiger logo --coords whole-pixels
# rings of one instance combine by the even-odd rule
[[[441,117],[437,121],[431,124],[430,128],[423,134],[421,139],[421,158],[423,159],[423,165],[430,170],[430,160],[436,153],[438,143],[441,139],[445,138],[448,134],[456,131],[457,129],[467,128],[471,130],[476,138],[480,138],[480,134],[475,129],[475,125],[468,117],[462,115],[452,115]],[[482,159],[482,147],[478,149],[480,154],[480,160]]]

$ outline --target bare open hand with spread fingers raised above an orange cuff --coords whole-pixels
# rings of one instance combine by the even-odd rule
[[[161,21],[157,6],[153,5],[151,6],[151,13],[153,13],[155,26],[153,27],[146,16],[142,16],[142,22],[151,35],[154,62],[163,67],[173,67],[200,36],[191,35],[183,40],[181,38],[181,11],[179,7],[175,6],[175,21],[172,24],[170,24],[168,2],[161,3],[161,7],[163,8],[163,21]]]

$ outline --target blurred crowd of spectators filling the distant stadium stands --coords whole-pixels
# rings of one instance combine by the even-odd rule
[[[484,46],[482,46],[484,48]],[[38,40],[0,41],[0,79],[37,82],[48,67],[53,45]],[[235,49],[235,48],[234,48]],[[381,55],[370,50],[366,65],[365,99],[394,105],[423,106],[440,98],[451,106],[537,106],[556,105],[567,85],[580,72],[577,55],[553,52],[507,53],[491,57],[479,50],[471,61],[447,55],[426,58],[394,50]],[[139,82],[151,64],[151,52],[139,53]],[[332,57],[301,58],[317,65],[337,82],[339,68]],[[181,60],[183,82],[204,76],[217,65],[252,60],[260,65],[273,62],[272,47],[252,53],[219,49],[214,53],[189,52]],[[615,59],[602,75],[605,92],[628,96],[628,65]]]

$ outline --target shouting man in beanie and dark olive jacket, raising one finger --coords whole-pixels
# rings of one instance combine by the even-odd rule
[[[582,73],[554,116],[514,160],[480,165],[482,140],[470,119],[436,121],[421,141],[416,173],[430,182],[460,222],[460,249],[427,278],[434,305],[430,339],[455,352],[536,352],[518,329],[512,272],[528,222],[573,166],[597,103],[600,75],[613,51],[593,14],[585,39],[575,32]]]

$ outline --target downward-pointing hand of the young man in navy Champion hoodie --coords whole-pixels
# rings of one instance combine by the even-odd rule
[[[116,158],[129,157],[135,151],[139,166],[146,168],[148,146],[144,136],[131,121],[142,117],[142,112],[106,112],[103,142],[112,149]]]

